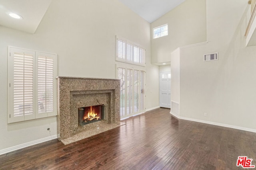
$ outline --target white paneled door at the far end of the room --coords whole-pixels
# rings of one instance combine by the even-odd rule
[[[159,106],[171,108],[171,72],[160,72]]]

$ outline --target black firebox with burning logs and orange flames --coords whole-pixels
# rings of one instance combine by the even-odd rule
[[[78,125],[101,121],[104,118],[104,105],[78,108]]]

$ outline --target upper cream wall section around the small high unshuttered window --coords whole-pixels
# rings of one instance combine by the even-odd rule
[[[151,31],[166,23],[168,35],[151,38],[152,63],[168,62],[176,48],[206,41],[206,0],[186,0],[151,23]]]

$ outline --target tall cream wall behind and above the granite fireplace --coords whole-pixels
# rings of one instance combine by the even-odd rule
[[[0,26],[0,150],[56,135],[56,117],[7,124],[7,46],[56,53],[59,76],[116,78],[115,35],[146,48],[146,108],[158,106],[150,23],[118,0],[54,0],[33,35]]]

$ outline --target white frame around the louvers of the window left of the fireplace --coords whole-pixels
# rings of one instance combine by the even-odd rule
[[[15,53],[26,53],[33,56],[33,113],[30,115],[16,115],[14,116],[14,55]],[[52,58],[53,68],[52,68],[52,111],[38,113],[38,56],[42,55]],[[47,73],[45,73],[47,74]],[[53,53],[39,52],[29,49],[23,49],[19,47],[8,46],[8,123],[21,122],[33,119],[39,119],[43,117],[51,117],[57,115],[57,84],[56,84],[56,75],[57,75],[57,55]],[[47,86],[47,85],[46,85]],[[24,94],[24,93],[23,93]]]

